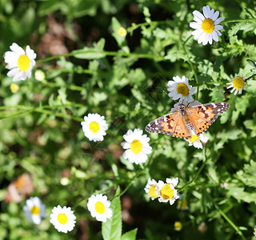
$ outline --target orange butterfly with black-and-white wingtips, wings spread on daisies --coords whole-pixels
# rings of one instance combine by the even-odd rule
[[[205,132],[210,125],[230,108],[226,102],[212,102],[187,106],[178,103],[170,114],[163,115],[160,118],[150,122],[145,130],[149,133],[161,133],[171,135],[175,138],[190,139],[192,135],[199,136]]]

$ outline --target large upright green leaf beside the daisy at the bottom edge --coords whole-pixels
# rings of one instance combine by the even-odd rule
[[[110,208],[113,210],[113,216],[106,222],[102,222],[102,237],[104,240],[119,240],[122,234],[120,198],[114,198]]]

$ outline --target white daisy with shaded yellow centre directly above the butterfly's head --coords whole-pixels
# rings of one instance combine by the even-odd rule
[[[174,100],[180,98],[180,101],[186,100],[187,102],[192,102],[192,95],[195,89],[189,85],[189,79],[185,76],[182,76],[182,78],[176,76],[173,79],[174,81],[169,81],[167,84],[169,86],[167,90],[170,91],[168,96]]]

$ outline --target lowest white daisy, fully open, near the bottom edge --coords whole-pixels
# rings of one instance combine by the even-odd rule
[[[67,233],[74,229],[75,224],[75,216],[74,212],[70,207],[63,206],[54,206],[51,210],[52,214],[50,214],[50,223],[54,225],[54,227],[62,233]]]

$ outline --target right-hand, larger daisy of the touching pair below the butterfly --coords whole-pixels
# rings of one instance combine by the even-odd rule
[[[178,184],[178,178],[166,178],[166,183],[161,180],[158,181],[157,191],[158,191],[158,201],[159,202],[170,202],[173,205],[178,199],[177,190],[175,186]]]

